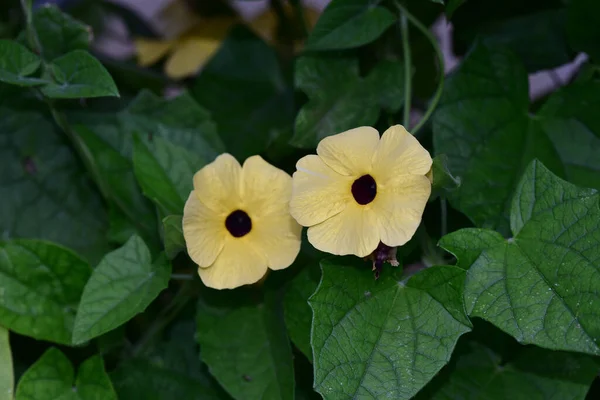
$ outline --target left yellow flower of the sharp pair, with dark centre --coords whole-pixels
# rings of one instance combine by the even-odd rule
[[[289,214],[292,178],[253,156],[222,154],[194,175],[183,210],[188,253],[206,286],[232,289],[290,266],[302,227]]]

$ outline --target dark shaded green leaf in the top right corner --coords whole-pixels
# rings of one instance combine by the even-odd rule
[[[571,0],[567,10],[569,43],[595,61],[600,60],[600,3],[595,0]]]

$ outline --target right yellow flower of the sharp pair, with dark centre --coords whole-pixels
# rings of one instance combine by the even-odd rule
[[[336,255],[371,254],[379,242],[401,246],[414,235],[431,194],[429,152],[401,125],[360,127],[329,136],[301,158],[290,212],[308,240]]]

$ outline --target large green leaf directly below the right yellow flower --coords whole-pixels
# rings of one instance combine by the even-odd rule
[[[431,267],[408,281],[379,280],[347,259],[323,261],[313,309],[315,388],[324,398],[412,398],[471,329],[465,271]]]

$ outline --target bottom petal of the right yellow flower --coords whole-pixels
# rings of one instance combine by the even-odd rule
[[[379,244],[377,216],[370,207],[348,205],[338,215],[308,228],[308,241],[331,254],[365,257]]]

